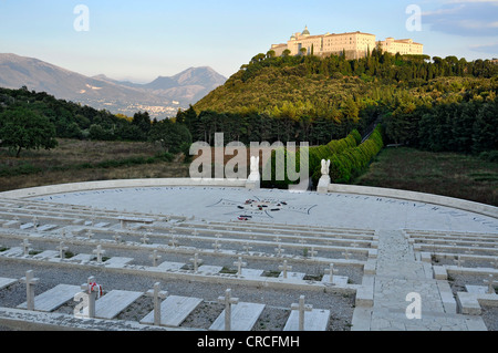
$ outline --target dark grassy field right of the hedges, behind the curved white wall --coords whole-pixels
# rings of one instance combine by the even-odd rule
[[[498,164],[456,153],[384,148],[354,184],[456,197],[498,206]]]

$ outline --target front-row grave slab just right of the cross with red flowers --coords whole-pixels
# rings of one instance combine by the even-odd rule
[[[112,320],[143,294],[143,292],[113,290],[95,301],[95,316]]]

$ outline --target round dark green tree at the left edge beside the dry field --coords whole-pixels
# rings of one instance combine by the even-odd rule
[[[15,150],[19,158],[22,149],[51,149],[58,146],[55,126],[35,111],[14,107],[0,114],[0,146]]]

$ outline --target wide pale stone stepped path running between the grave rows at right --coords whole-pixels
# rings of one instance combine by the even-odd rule
[[[456,305],[445,305],[446,281],[435,280],[432,264],[416,259],[403,231],[377,235],[376,274],[369,281],[373,305],[355,309],[353,330],[487,331],[480,316],[464,316],[456,313]]]

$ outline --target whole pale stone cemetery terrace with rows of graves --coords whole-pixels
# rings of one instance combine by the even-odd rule
[[[95,300],[101,330],[498,329],[492,215],[222,186],[1,197],[0,326],[91,329],[72,298],[94,277],[105,289]],[[34,311],[20,281],[28,270]],[[154,298],[156,282],[168,293]],[[155,325],[154,302],[163,308]]]

